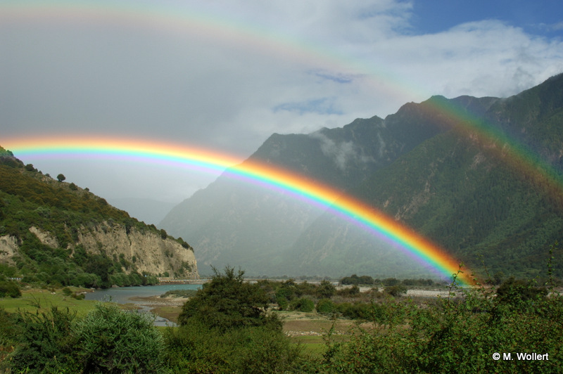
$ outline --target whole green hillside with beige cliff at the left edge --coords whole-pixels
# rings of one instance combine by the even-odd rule
[[[0,147],[0,274],[109,287],[198,278],[194,249]]]

